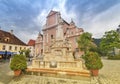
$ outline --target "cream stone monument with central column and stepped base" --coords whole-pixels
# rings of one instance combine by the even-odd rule
[[[56,39],[39,59],[33,59],[32,69],[41,73],[65,73],[68,75],[90,76],[82,60],[75,60],[71,43],[63,38],[61,23],[57,26]]]

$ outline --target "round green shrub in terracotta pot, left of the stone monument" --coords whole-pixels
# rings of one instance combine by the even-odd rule
[[[14,71],[15,76],[19,76],[21,71],[27,68],[26,57],[22,54],[13,56],[10,68]]]

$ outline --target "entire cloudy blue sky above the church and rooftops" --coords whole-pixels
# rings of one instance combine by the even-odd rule
[[[120,24],[120,0],[0,0],[0,26],[22,41],[36,39],[50,10],[100,38]]]

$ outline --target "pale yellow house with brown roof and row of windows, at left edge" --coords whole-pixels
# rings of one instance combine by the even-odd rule
[[[13,30],[6,32],[0,30],[0,54],[18,53],[22,49],[27,49],[27,45],[13,34]]]

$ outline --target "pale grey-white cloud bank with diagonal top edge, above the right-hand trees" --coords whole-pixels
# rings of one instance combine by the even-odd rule
[[[93,37],[100,38],[105,31],[114,30],[120,24],[120,4],[117,4],[83,24]]]

